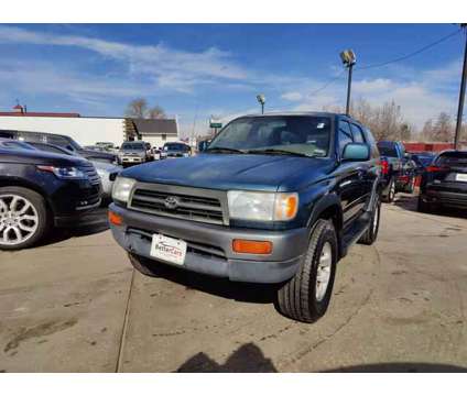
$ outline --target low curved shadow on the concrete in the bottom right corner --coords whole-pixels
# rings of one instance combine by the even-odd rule
[[[377,363],[327,370],[325,373],[467,373],[467,367],[438,363]]]

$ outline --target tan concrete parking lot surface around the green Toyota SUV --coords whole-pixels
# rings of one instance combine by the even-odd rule
[[[0,371],[467,371],[467,216],[414,208],[383,205],[314,324],[269,286],[133,272],[108,230],[1,252]]]

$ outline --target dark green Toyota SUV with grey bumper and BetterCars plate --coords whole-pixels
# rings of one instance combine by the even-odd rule
[[[279,309],[312,322],[329,304],[337,262],[372,244],[380,220],[371,132],[335,113],[246,116],[196,156],[122,172],[109,220],[133,266],[279,284]]]

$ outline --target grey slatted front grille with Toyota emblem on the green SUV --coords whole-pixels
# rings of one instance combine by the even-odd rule
[[[175,217],[213,224],[228,224],[225,213],[224,193],[167,185],[138,185],[129,207],[153,215]],[[174,208],[166,199],[175,199]]]

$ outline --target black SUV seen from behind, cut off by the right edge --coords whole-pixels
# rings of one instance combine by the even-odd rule
[[[467,151],[438,154],[422,175],[419,211],[443,206],[467,208]]]

